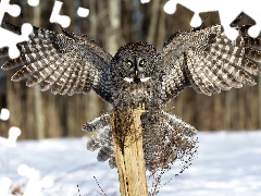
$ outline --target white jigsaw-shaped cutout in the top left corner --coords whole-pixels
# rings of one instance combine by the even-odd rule
[[[0,23],[4,13],[8,12],[10,15],[16,17],[21,13],[21,8],[17,4],[10,4],[10,0],[1,0],[0,2]],[[22,35],[16,35],[10,30],[0,27],[0,48],[9,47],[9,57],[14,59],[20,56],[20,51],[16,47],[18,42],[28,40],[29,34],[33,32],[30,24],[25,23],[22,25]]]

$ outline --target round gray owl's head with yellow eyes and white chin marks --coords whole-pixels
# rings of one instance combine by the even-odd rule
[[[132,42],[117,50],[112,59],[111,72],[114,78],[138,84],[149,81],[160,65],[161,54],[153,46]]]

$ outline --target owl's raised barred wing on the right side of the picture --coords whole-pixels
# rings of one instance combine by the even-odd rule
[[[249,37],[249,27],[237,27],[239,36],[234,41],[225,36],[221,25],[175,32],[161,53],[163,102],[186,87],[211,96],[243,84],[254,85],[249,73],[261,75],[261,39]]]

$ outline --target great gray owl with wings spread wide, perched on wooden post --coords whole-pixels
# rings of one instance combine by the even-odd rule
[[[195,145],[191,138],[197,131],[162,110],[184,88],[192,87],[210,96],[243,84],[256,84],[249,74],[261,74],[261,40],[249,37],[250,26],[238,27],[237,21],[234,26],[239,36],[235,41],[226,38],[221,25],[215,25],[177,30],[162,51],[147,42],[132,42],[121,47],[114,57],[86,35],[34,27],[29,40],[17,45],[22,54],[8,60],[2,69],[23,65],[12,81],[28,78],[27,86],[38,85],[40,90],[51,89],[53,94],[87,94],[92,89],[114,110],[145,105],[149,111],[141,119],[145,160],[147,169],[152,170],[158,158],[164,157],[166,167]],[[11,24],[3,26],[21,32]],[[8,49],[2,48],[0,56],[7,57]],[[98,160],[110,159],[110,166],[115,167],[110,118],[111,112],[105,113],[84,124],[83,130],[99,127],[87,148],[100,149]],[[172,148],[172,152],[159,156],[164,147]]]

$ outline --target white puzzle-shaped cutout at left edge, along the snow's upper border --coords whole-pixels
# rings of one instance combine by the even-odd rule
[[[21,130],[16,126],[12,126],[9,128],[9,137],[0,137],[0,145],[4,145],[7,147],[14,148],[16,147],[17,137],[21,135]]]

